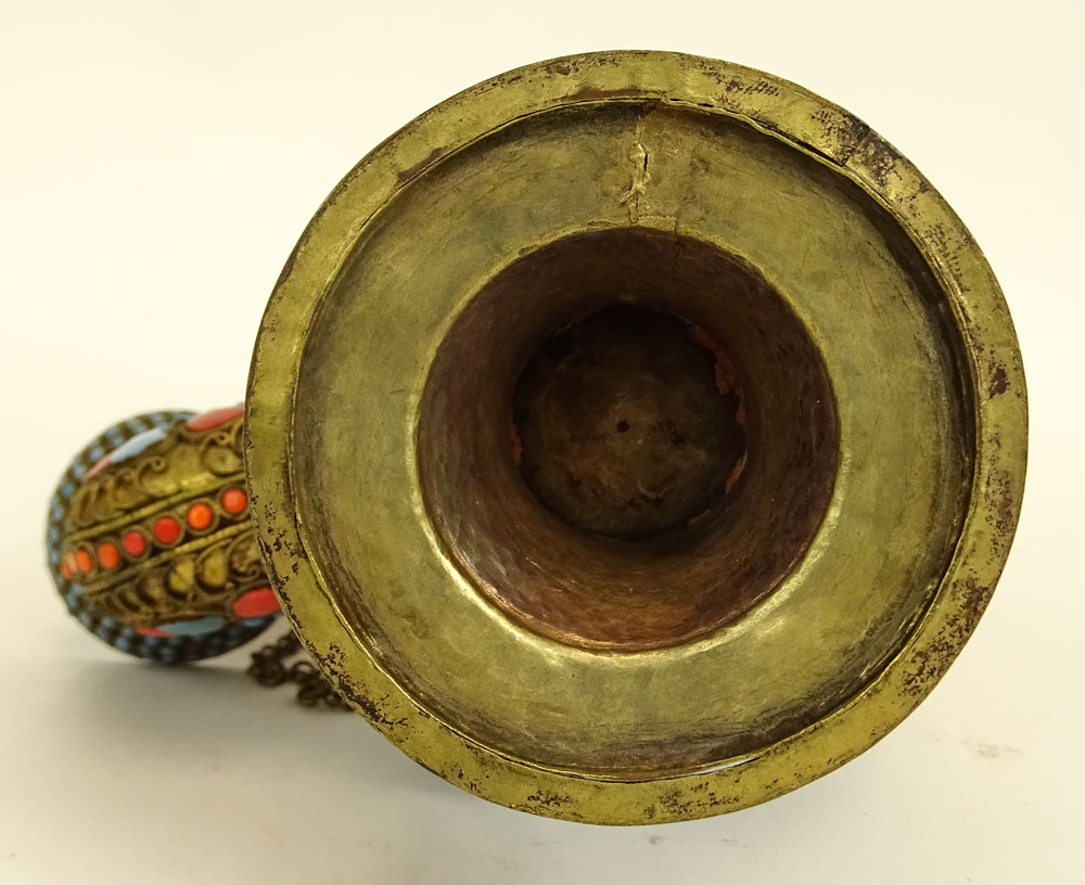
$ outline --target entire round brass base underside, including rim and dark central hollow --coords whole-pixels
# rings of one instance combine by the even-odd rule
[[[347,175],[246,434],[283,607],[359,713],[485,798],[644,823],[806,783],[933,688],[1009,549],[1025,389],[982,254],[869,127],[610,52]]]

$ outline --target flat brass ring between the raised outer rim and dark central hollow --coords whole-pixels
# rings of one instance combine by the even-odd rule
[[[761,749],[795,723],[816,721],[896,651],[955,540],[968,470],[957,442],[968,436],[966,405],[954,388],[955,365],[940,352],[937,315],[922,309],[924,280],[894,259],[893,249],[907,244],[886,243],[857,195],[819,164],[749,127],[702,116],[603,104],[553,111],[477,142],[370,222],[307,332],[293,429],[306,549],[354,629],[414,697],[486,746],[535,765],[662,777]],[[518,255],[564,226],[628,225],[613,191],[627,174],[621,161],[634,139],[653,146],[660,191],[641,197],[640,226],[669,231],[679,223],[684,235],[741,255],[817,343],[838,403],[841,467],[813,549],[763,606],[700,641],[615,658],[494,617],[470,573],[433,543],[431,521],[419,518],[421,479],[405,453],[425,429],[416,415],[432,355],[451,334],[448,320]],[[615,157],[611,189],[592,187]],[[533,189],[549,198],[523,213]],[[486,200],[464,200],[467,192]],[[712,307],[710,329],[740,321],[722,298],[705,312]],[[753,393],[778,375],[769,363],[778,333],[745,322],[755,326],[743,336],[744,386]],[[503,351],[489,344],[465,377],[501,372]],[[740,549],[755,565],[766,557],[762,533],[745,530],[764,525],[782,534],[796,510],[783,490],[805,490],[802,464],[758,470],[786,460],[775,448],[788,437],[775,433],[774,418],[765,415],[760,440],[751,441],[750,479],[756,474],[760,482],[748,482],[743,493],[761,503],[777,499],[778,506],[756,511],[775,520],[720,526],[725,536],[728,528],[741,533]],[[438,466],[436,459],[432,453],[426,466]],[[478,485],[460,501],[444,499],[441,520],[467,536],[461,546],[477,551],[489,582],[524,580],[526,572],[557,594],[571,592],[566,580],[605,579],[595,569],[566,573],[573,555],[585,567],[621,569],[616,581],[629,573],[627,583],[636,586],[654,573],[669,579],[665,591],[682,593],[706,579],[702,563],[720,543],[693,551],[701,555],[680,572],[665,559],[662,575],[631,551],[625,569],[616,556],[580,553],[577,535],[552,523],[552,533],[539,526],[518,543],[486,544],[493,528],[458,525],[493,491],[485,479]],[[728,513],[741,517],[746,509],[736,501]]]

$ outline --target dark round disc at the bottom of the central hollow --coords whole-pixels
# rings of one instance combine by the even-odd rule
[[[613,306],[563,325],[516,383],[516,466],[589,533],[638,539],[699,521],[745,451],[729,365],[704,330],[666,311]]]

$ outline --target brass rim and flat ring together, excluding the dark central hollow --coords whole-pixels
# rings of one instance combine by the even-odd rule
[[[764,275],[825,362],[840,442],[825,518],[767,598],[689,642],[614,652],[480,591],[435,528],[418,440],[435,355],[476,293],[561,238],[630,228]],[[771,375],[755,341],[749,390]],[[780,474],[754,459],[782,445],[770,418],[748,486],[769,498]],[[1008,552],[1024,382],[979,249],[868,127],[739,66],[599,53],[480,85],[344,179],[272,295],[246,434],[277,591],[356,709],[495,801],[661,822],[794,788],[933,688]]]

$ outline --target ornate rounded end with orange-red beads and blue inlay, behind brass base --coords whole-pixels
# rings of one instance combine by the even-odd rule
[[[279,613],[248,516],[241,406],[116,424],[50,503],[49,569],[68,611],[163,664],[230,651]]]

